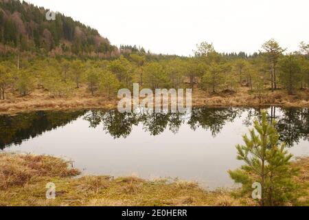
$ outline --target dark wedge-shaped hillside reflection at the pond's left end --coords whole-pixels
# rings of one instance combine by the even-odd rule
[[[21,144],[23,140],[51,131],[83,115],[84,111],[36,111],[18,115],[0,115],[0,148]]]

